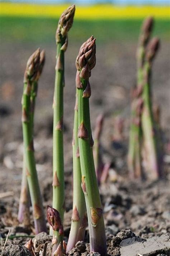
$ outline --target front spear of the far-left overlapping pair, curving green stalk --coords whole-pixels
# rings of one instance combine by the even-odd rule
[[[25,171],[33,207],[33,218],[36,234],[46,232],[46,221],[43,213],[42,197],[38,184],[36,162],[34,158],[32,123],[30,114],[30,96],[33,81],[37,77],[40,61],[40,50],[36,50],[28,59],[24,74],[24,90],[22,97],[22,126],[24,140]]]

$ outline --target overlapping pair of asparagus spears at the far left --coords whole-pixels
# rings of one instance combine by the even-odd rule
[[[44,64],[44,51],[36,50],[28,59],[24,74],[24,90],[22,97],[22,126],[24,140],[24,168],[23,183],[20,200],[19,219],[22,220],[25,214],[28,215],[28,189],[33,208],[33,217],[36,233],[46,232],[46,221],[43,213],[42,197],[39,189],[38,176],[36,171],[36,162],[34,158],[33,147],[33,117],[34,104],[37,93],[37,82],[41,75]],[[27,177],[27,181],[25,179]],[[26,213],[27,211],[27,213]]]

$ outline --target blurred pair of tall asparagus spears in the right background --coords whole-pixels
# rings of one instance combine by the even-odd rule
[[[151,69],[159,49],[159,39],[154,37],[150,40],[152,27],[153,19],[149,17],[143,23],[137,49],[137,86],[132,95],[128,152],[128,168],[132,178],[144,178],[142,157],[145,158],[148,175],[152,179],[160,176],[151,97]]]

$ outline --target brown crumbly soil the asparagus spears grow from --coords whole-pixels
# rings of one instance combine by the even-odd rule
[[[72,208],[72,128],[75,104],[74,61],[81,42],[69,46],[66,52],[66,86],[64,89],[64,151],[66,213],[64,221],[67,242]],[[25,63],[37,45],[1,44],[0,94],[0,252],[2,255],[30,255],[23,245],[34,236],[33,220],[29,227],[17,221],[22,177],[21,96]],[[55,47],[41,45],[46,50],[46,66],[39,82],[35,115],[35,154],[44,209],[52,204],[52,99],[55,80]],[[15,49],[15,51],[13,50]],[[134,43],[110,42],[97,46],[97,64],[90,78],[92,128],[96,116],[105,116],[101,138],[104,162],[111,162],[109,178],[100,186],[107,234],[108,255],[170,255],[170,146],[169,146],[169,44],[162,42],[152,76],[154,102],[161,107],[162,138],[164,140],[164,178],[159,181],[130,181],[127,172],[130,89],[135,84]],[[17,54],[16,54],[17,53]],[[113,141],[114,120],[124,119],[122,140]],[[10,232],[9,232],[10,231]],[[88,228],[85,242],[79,242],[70,255],[96,255],[89,252]],[[151,239],[151,240],[150,240]],[[51,237],[39,234],[34,239],[37,255],[47,245],[51,255]],[[148,243],[147,243],[148,241]],[[148,245],[149,244],[149,245]],[[157,250],[157,244],[161,245]],[[135,245],[135,246],[134,246]],[[150,247],[153,245],[152,247]],[[148,251],[142,251],[148,248]],[[154,249],[153,249],[154,248]],[[17,254],[19,253],[19,254]]]

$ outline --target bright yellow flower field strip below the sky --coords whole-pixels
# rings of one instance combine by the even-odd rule
[[[0,3],[0,15],[20,17],[50,17],[61,15],[68,5],[44,5],[24,3]],[[167,6],[76,6],[75,19],[138,19],[152,15],[159,19],[170,19]]]

